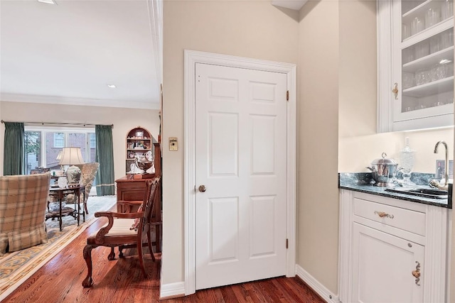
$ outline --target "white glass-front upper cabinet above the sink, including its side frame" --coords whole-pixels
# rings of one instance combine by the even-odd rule
[[[378,1],[378,13],[378,131],[453,125],[454,1]]]

